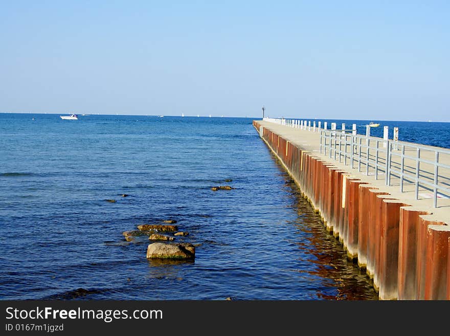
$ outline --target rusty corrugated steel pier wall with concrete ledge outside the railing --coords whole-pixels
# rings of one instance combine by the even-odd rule
[[[318,133],[253,121],[380,300],[450,300],[450,199],[415,199],[319,150]]]

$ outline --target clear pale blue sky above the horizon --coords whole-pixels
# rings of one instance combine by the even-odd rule
[[[0,0],[0,112],[450,121],[449,1]]]

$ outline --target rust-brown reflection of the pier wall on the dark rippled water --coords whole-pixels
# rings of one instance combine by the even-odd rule
[[[324,280],[325,288],[322,287],[317,292],[319,299],[378,300],[373,281],[355,262],[347,259],[343,245],[326,230],[320,215],[303,197],[299,186],[285,171],[278,158],[274,159],[284,174],[284,187],[292,199],[291,208],[298,214],[294,225],[302,238],[294,242],[302,252],[301,255],[308,256],[308,261],[316,265],[314,270],[297,270],[297,272],[307,272]]]

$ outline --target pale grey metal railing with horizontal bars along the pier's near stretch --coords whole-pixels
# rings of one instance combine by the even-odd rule
[[[450,165],[440,161],[444,155],[450,158],[447,149],[356,135],[354,130],[320,129],[320,152],[358,172],[374,175],[375,180],[385,175],[387,186],[397,177],[401,192],[407,183],[413,184],[416,199],[420,188],[433,191],[435,208],[438,197],[450,195]]]

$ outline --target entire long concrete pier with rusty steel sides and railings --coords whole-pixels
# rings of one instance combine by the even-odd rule
[[[253,126],[380,300],[450,300],[450,150],[399,142],[398,129],[390,140],[315,121]]]

